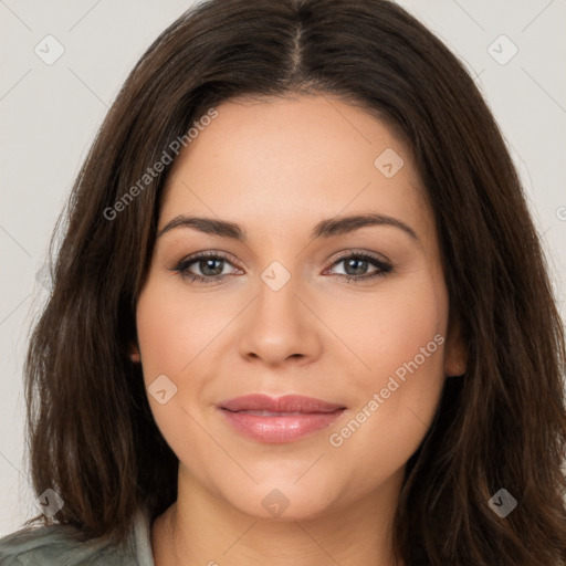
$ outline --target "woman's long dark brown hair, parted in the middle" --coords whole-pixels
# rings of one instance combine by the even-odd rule
[[[407,566],[566,564],[564,329],[539,239],[473,80],[386,0],[210,0],[143,55],[73,187],[31,338],[35,490],[63,499],[59,523],[115,541],[138,507],[155,517],[176,500],[178,460],[128,355],[170,167],[124,195],[210,108],[297,93],[358,104],[407,140],[468,348],[407,464],[398,555]],[[488,504],[502,488],[517,500],[505,518]]]

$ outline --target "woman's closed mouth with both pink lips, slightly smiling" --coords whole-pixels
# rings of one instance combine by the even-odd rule
[[[329,427],[346,407],[298,395],[273,398],[253,394],[223,401],[219,409],[237,433],[279,444]]]

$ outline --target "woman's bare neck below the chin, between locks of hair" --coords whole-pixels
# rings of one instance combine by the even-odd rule
[[[156,566],[402,566],[392,554],[392,520],[402,470],[348,507],[297,521],[242,513],[179,468],[177,502],[156,518]]]

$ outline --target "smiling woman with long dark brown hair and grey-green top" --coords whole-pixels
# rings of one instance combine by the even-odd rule
[[[0,564],[566,564],[538,237],[472,78],[401,8],[186,13],[65,230],[25,374],[54,524]]]

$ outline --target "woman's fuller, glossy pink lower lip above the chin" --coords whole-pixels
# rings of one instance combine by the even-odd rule
[[[258,442],[270,444],[293,442],[329,427],[344,411],[345,409],[338,409],[333,412],[303,412],[264,417],[222,409],[228,422],[237,432]]]

